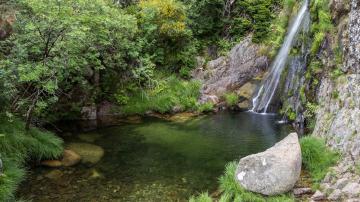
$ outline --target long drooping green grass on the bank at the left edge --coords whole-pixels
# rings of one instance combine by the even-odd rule
[[[24,123],[1,117],[0,153],[4,174],[0,176],[0,201],[13,200],[14,193],[25,176],[26,160],[53,159],[62,154],[62,140],[53,134],[32,128],[25,132]]]

